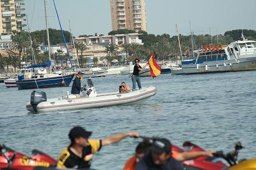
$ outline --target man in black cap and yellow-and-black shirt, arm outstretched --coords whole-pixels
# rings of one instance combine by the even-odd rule
[[[92,132],[80,126],[70,130],[68,134],[71,144],[58,156],[57,168],[90,168],[93,154],[102,146],[117,143],[126,137],[139,137],[138,132],[127,132],[112,135],[102,140],[88,139]]]

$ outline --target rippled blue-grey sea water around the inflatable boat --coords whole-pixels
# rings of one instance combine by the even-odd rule
[[[158,89],[141,106],[115,106],[96,109],[31,114],[26,110],[32,90],[6,88],[0,83],[0,143],[32,156],[38,149],[54,158],[68,146],[68,132],[75,125],[93,131],[92,139],[117,133],[138,131],[143,136],[170,139],[182,147],[191,141],[206,150],[234,149],[240,141],[245,147],[239,158],[256,157],[256,71],[216,74],[160,74],[142,77],[142,86]],[[127,75],[93,78],[97,92],[118,89],[121,82],[132,88]],[[87,84],[86,80],[82,84]],[[71,87],[41,89],[48,98],[61,96]],[[123,168],[142,139],[126,138],[102,147],[94,155],[91,168]]]

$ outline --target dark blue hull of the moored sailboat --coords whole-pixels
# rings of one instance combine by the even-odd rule
[[[52,78],[38,78],[36,80],[18,80],[16,83],[19,89],[49,88],[69,86],[74,74],[69,76],[56,76]],[[64,82],[62,82],[64,80]],[[35,82],[36,81],[36,82]]]

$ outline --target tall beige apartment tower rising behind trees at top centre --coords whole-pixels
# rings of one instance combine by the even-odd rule
[[[110,0],[112,30],[147,31],[145,0]]]

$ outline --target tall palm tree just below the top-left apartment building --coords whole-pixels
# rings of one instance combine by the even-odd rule
[[[12,51],[13,50],[18,50],[19,53],[19,59],[21,59],[21,52],[23,49],[25,49],[26,47],[28,47],[29,45],[29,41],[28,41],[28,37],[26,37],[24,35],[24,33],[20,32],[17,35],[12,36],[12,41],[13,43],[11,43],[12,45]]]

